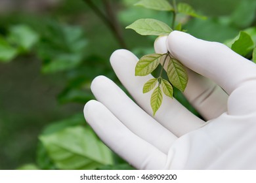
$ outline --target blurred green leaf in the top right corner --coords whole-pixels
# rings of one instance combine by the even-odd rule
[[[251,25],[256,16],[256,1],[243,0],[234,10],[231,18],[232,22],[238,27],[247,27]]]

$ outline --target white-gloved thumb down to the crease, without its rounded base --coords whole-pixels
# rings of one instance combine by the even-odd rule
[[[256,77],[256,65],[219,42],[196,39],[188,33],[173,31],[167,38],[169,52],[186,67],[214,80],[230,94]]]

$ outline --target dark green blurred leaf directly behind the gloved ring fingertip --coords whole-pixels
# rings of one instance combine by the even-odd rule
[[[64,103],[82,103],[94,99],[91,93],[91,81],[98,75],[105,75],[108,78],[116,78],[114,72],[106,59],[98,56],[89,56],[83,59],[79,67],[68,71],[68,82],[58,94],[58,102]]]

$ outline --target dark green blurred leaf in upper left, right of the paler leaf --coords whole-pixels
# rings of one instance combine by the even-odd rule
[[[41,34],[37,52],[43,73],[66,71],[81,63],[87,46],[81,27],[49,22]]]

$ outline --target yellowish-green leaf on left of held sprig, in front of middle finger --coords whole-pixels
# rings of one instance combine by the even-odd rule
[[[160,64],[164,54],[148,54],[142,56],[135,67],[135,76],[146,76],[152,73]]]

